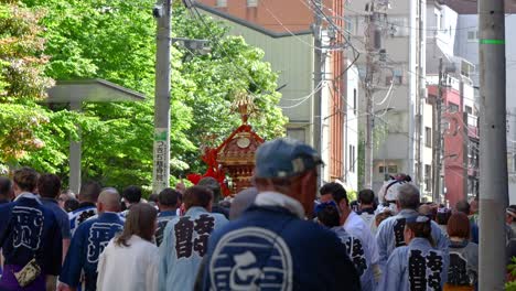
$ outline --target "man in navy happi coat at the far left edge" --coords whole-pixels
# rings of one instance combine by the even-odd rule
[[[30,168],[14,171],[15,200],[0,206],[0,247],[6,259],[0,290],[55,288],[55,276],[61,271],[61,230],[54,213],[34,195],[37,176]],[[14,274],[33,259],[41,272],[22,288]]]

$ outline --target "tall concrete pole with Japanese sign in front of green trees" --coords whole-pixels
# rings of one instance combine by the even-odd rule
[[[170,46],[171,0],[164,0],[158,20],[155,53],[154,151],[152,193],[169,186],[170,179]]]

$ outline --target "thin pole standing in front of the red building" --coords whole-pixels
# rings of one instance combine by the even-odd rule
[[[441,202],[441,119],[442,119],[442,83],[444,78],[444,69],[442,66],[442,57],[439,58],[439,84],[438,84],[438,97],[433,106],[433,183],[432,183],[432,196],[433,202]]]

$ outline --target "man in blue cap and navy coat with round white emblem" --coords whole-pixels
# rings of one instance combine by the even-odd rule
[[[318,191],[318,152],[282,138],[261,144],[255,160],[258,195],[209,238],[203,290],[361,290],[345,245],[305,219]]]

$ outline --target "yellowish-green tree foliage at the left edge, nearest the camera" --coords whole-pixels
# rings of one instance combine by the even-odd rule
[[[61,151],[65,136],[75,133],[69,130],[73,115],[40,105],[53,85],[43,72],[49,57],[43,54],[42,15],[15,1],[0,2],[1,172],[20,163],[55,172],[66,161]]]

